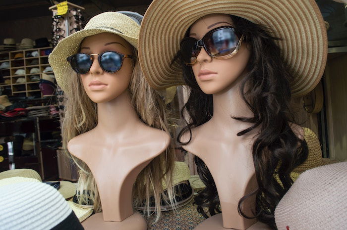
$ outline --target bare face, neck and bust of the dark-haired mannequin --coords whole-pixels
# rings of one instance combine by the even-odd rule
[[[221,26],[232,26],[237,29],[230,15],[210,14],[195,21],[190,27],[188,36],[200,40],[207,32]],[[247,64],[251,55],[249,45],[245,41],[237,53],[228,59],[213,58],[204,48],[201,48],[196,57],[196,63],[187,67],[191,68],[201,91],[212,94],[213,115],[201,125],[191,129],[186,127],[178,138],[185,150],[198,157],[198,162],[197,159],[195,161],[198,172],[200,171],[200,178],[203,178],[201,168],[207,167],[215,183],[217,198],[222,209],[221,214],[203,221],[195,228],[196,230],[271,229],[268,225],[257,222],[256,218],[245,218],[238,211],[241,198],[250,194],[243,200],[240,207],[243,214],[248,217],[254,217],[257,212],[255,192],[258,189],[258,183],[252,148],[261,132],[261,126],[254,126],[246,120],[233,119],[254,117],[252,109],[246,104],[240,92],[242,81],[249,72]],[[247,86],[245,87],[244,90],[247,91]],[[190,95],[189,99],[191,98],[194,98],[193,94]],[[201,113],[204,112],[201,111]],[[289,123],[287,124],[289,127]],[[253,129],[244,135],[238,135],[250,127]],[[290,128],[297,138],[303,138],[301,127],[290,123]],[[200,167],[201,161],[206,166]],[[206,194],[203,198],[205,200]],[[201,204],[199,196],[196,202],[198,205]]]

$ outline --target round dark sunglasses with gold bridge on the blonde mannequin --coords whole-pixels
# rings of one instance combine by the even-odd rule
[[[132,59],[132,55],[125,55],[116,51],[105,51],[100,55],[97,53],[86,54],[76,53],[67,58],[70,62],[72,69],[78,74],[86,74],[89,72],[93,64],[93,57],[98,55],[100,67],[108,73],[116,73],[123,64],[124,58]]]

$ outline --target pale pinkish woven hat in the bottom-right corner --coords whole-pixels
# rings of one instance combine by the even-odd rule
[[[275,209],[278,230],[346,230],[347,162],[302,173]]]

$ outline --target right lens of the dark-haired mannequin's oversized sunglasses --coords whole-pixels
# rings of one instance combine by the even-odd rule
[[[220,57],[230,54],[237,46],[238,38],[231,28],[222,28],[205,38],[205,46],[212,56]]]

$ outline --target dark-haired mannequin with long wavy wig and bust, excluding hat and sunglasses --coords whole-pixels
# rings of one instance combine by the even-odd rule
[[[195,199],[199,212],[205,214],[202,207],[209,207],[210,215],[214,215],[221,211],[219,204],[222,207],[222,214],[208,218],[196,230],[208,230],[211,226],[216,226],[216,230],[270,229],[269,226],[274,228],[271,215],[277,199],[289,189],[290,179],[283,182],[285,189],[279,189],[271,180],[284,156],[275,157],[268,153],[269,149],[292,157],[286,163],[286,172],[307,156],[303,131],[288,116],[292,76],[274,38],[243,18],[209,14],[195,21],[187,36],[200,40],[222,26],[232,26],[238,39],[243,37],[233,56],[215,58],[202,47],[194,64],[182,63],[184,80],[191,88],[183,109],[192,119],[178,140],[197,156],[198,173],[207,185]],[[277,141],[283,144],[276,144]],[[297,154],[297,146],[303,147],[301,155]],[[285,148],[290,151],[284,151]],[[277,198],[267,200],[267,195]],[[269,226],[257,222],[254,214]]]

